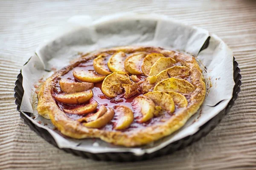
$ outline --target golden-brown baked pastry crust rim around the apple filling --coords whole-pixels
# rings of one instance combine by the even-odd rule
[[[99,55],[115,54],[120,51],[124,52],[125,54],[133,54],[136,52],[143,52],[146,54],[160,53],[165,57],[171,57],[174,59],[176,61],[175,65],[181,65],[189,68],[189,77],[177,78],[186,79],[194,87],[194,90],[191,93],[183,94],[187,99],[186,107],[177,108],[176,106],[175,112],[165,113],[169,115],[167,117],[162,116],[158,119],[155,119],[153,122],[151,121],[148,124],[145,124],[144,126],[131,129],[128,128],[126,130],[115,130],[113,128],[90,128],[84,126],[83,123],[79,122],[78,120],[70,118],[57,105],[56,99],[54,98],[53,88],[55,88],[56,84],[59,83],[61,77],[67,74],[69,71],[72,71],[72,69],[76,68],[79,64],[86,63],[92,59],[95,59]],[[104,73],[109,74],[108,71],[105,71]],[[142,85],[143,88],[150,86],[151,88],[148,89],[150,89],[149,91],[152,91],[152,89],[157,85],[157,82],[150,84],[144,81],[140,83],[140,85]],[[55,127],[66,136],[76,139],[99,138],[112,144],[122,145],[125,147],[134,147],[156,141],[180,129],[186,123],[186,121],[194,113],[196,113],[196,111],[198,111],[199,107],[204,101],[205,94],[206,87],[204,83],[204,77],[202,76],[202,71],[194,57],[187,54],[182,54],[177,51],[169,51],[163,48],[125,46],[103,49],[97,52],[85,54],[79,59],[74,60],[69,66],[57,71],[41,86],[41,89],[38,93],[37,110],[40,115],[46,118],[49,116],[53,125],[55,125]]]

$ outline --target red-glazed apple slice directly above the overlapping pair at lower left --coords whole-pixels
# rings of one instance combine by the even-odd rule
[[[90,102],[87,105],[75,109],[63,109],[63,111],[70,114],[86,114],[95,111],[97,106],[98,103],[96,100],[90,99]]]

